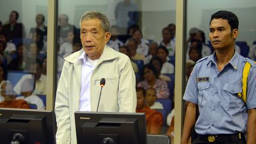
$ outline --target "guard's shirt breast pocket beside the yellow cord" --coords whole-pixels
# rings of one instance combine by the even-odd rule
[[[226,107],[228,108],[238,108],[243,104],[242,98],[238,97],[238,93],[242,92],[241,85],[238,84],[225,84],[223,97],[227,101]]]

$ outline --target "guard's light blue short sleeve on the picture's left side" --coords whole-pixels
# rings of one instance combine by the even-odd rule
[[[193,71],[191,72],[190,78],[188,79],[187,87],[185,89],[185,94],[183,100],[190,101],[191,103],[198,104],[198,89],[197,89],[197,71],[198,64],[194,66]]]

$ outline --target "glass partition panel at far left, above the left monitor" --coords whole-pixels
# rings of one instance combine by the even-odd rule
[[[0,107],[44,110],[47,1],[0,3]]]

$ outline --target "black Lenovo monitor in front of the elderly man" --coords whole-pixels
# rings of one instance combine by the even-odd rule
[[[75,112],[77,143],[146,144],[144,113]]]

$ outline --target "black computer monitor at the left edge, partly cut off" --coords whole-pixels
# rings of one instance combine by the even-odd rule
[[[0,143],[56,143],[53,118],[53,111],[0,108]]]

